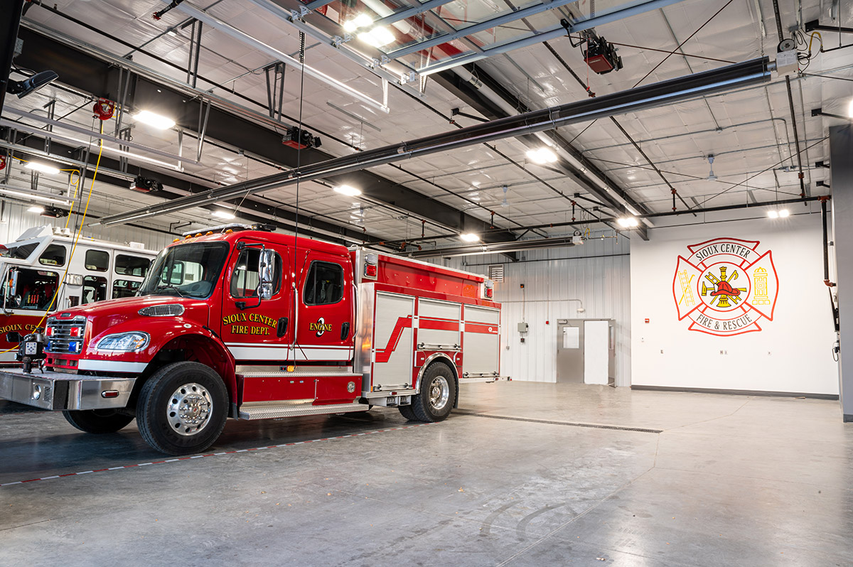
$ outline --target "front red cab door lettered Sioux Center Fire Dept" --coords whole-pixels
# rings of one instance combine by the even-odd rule
[[[293,342],[290,265],[287,246],[257,239],[241,240],[225,271],[219,335],[238,364],[284,364]],[[262,247],[275,252],[269,299],[258,298]]]

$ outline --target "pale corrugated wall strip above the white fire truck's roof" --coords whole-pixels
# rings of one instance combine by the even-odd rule
[[[38,213],[27,211],[26,209],[29,206],[3,201],[3,215],[0,216],[0,243],[14,242],[21,233],[32,227],[65,226],[65,218],[42,217]],[[71,223],[76,220],[76,217],[72,217]],[[160,251],[174,238],[153,230],[129,228],[125,225],[84,227],[83,235],[99,240],[110,240],[111,242],[142,242],[148,250],[154,251]]]

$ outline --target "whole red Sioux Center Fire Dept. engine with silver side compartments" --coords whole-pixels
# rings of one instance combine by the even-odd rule
[[[227,417],[396,407],[450,414],[463,382],[499,376],[500,305],[481,275],[227,226],[154,260],[135,297],[51,315],[44,373],[0,372],[0,398],[79,430],[136,418],[166,454],[210,447]],[[22,347],[23,351],[23,347]]]

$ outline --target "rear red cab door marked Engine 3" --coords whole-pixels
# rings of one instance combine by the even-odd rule
[[[296,360],[350,361],[355,334],[350,258],[308,252],[297,292]]]

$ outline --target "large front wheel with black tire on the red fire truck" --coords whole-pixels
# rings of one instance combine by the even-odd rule
[[[136,425],[160,453],[200,453],[216,442],[228,418],[228,391],[219,374],[199,362],[160,368],[139,392]]]

